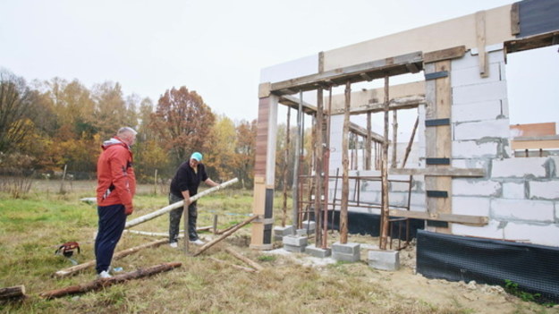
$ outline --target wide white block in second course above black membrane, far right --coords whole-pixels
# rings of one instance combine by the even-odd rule
[[[555,205],[547,200],[492,199],[491,217],[501,221],[552,223],[555,220]]]

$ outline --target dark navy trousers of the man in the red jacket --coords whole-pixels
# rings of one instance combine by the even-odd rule
[[[97,259],[97,274],[111,265],[114,248],[123,235],[126,225],[126,214],[121,204],[97,206],[99,216],[99,230],[95,239],[95,258]]]

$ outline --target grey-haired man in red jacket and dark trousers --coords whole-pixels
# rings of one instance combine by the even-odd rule
[[[99,229],[95,239],[97,276],[109,278],[109,266],[116,243],[123,235],[126,216],[132,213],[132,198],[136,192],[136,177],[132,169],[130,147],[136,131],[129,127],[118,130],[106,140],[97,161],[97,215]]]

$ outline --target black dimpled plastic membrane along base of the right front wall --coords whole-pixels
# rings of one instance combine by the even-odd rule
[[[417,270],[428,278],[479,284],[518,284],[559,301],[559,248],[418,231]]]

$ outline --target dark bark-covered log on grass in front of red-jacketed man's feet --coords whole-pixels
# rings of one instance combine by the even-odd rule
[[[68,294],[87,293],[89,291],[97,290],[102,287],[106,287],[113,284],[119,284],[131,279],[138,279],[145,276],[152,276],[154,274],[168,271],[181,266],[182,263],[180,262],[164,263],[161,265],[138,269],[136,271],[132,271],[126,274],[112,276],[106,279],[97,279],[86,284],[72,285],[63,289],[47,291],[46,293],[40,293],[39,295],[46,299],[54,299],[54,298],[63,297],[64,295],[68,295]]]

